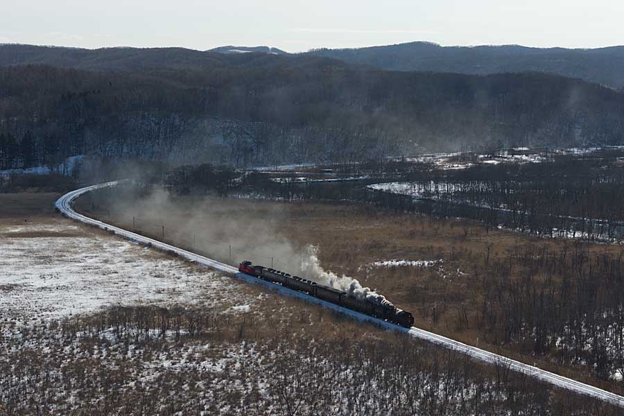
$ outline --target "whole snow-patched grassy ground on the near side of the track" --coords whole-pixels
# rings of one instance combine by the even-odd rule
[[[55,196],[2,196],[0,413],[618,412],[73,223]]]

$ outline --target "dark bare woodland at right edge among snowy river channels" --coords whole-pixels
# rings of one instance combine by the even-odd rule
[[[622,241],[623,154],[614,149],[587,156],[557,155],[544,163],[477,164],[465,171],[413,170],[399,175],[411,184],[408,192],[401,193],[426,199],[415,209],[474,218],[491,227]]]

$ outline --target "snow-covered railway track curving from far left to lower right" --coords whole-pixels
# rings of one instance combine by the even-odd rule
[[[87,225],[92,225],[94,227],[104,229],[105,231],[112,232],[130,241],[134,241],[135,243],[146,244],[146,245],[150,245],[150,247],[156,248],[157,250],[170,252],[172,254],[175,253],[179,257],[182,257],[189,261],[193,261],[202,266],[207,266],[209,268],[220,270],[221,272],[225,272],[229,275],[234,275],[244,281],[248,281],[253,284],[261,284],[264,286],[268,286],[272,288],[273,290],[277,291],[278,293],[291,295],[294,297],[300,297],[306,300],[307,302],[321,304],[323,306],[326,306],[329,309],[333,309],[340,313],[345,313],[346,315],[351,315],[358,320],[372,322],[374,324],[378,324],[392,331],[400,331],[400,332],[408,333],[410,336],[413,336],[414,338],[426,340],[430,343],[434,343],[436,345],[440,345],[442,347],[452,349],[453,351],[466,354],[479,361],[485,361],[486,363],[489,363],[492,365],[499,365],[501,367],[506,367],[506,368],[509,368],[510,370],[514,370],[515,372],[527,374],[528,376],[531,376],[539,381],[543,381],[544,383],[555,385],[555,387],[557,388],[562,388],[564,390],[576,392],[580,395],[593,397],[595,399],[605,401],[609,404],[613,404],[615,406],[624,408],[624,397],[620,395],[616,395],[615,393],[609,392],[607,390],[603,390],[593,385],[581,383],[580,381],[575,381],[573,379],[560,376],[559,374],[555,374],[553,372],[541,370],[538,367],[528,365],[526,363],[521,363],[520,361],[512,360],[511,358],[501,356],[499,354],[494,354],[493,352],[486,351],[485,349],[480,349],[477,347],[473,347],[472,345],[460,343],[459,341],[453,340],[451,338],[447,338],[445,336],[438,335],[437,333],[424,331],[423,329],[418,329],[416,327],[412,327],[410,329],[399,327],[395,324],[390,324],[388,322],[373,318],[372,316],[363,315],[361,313],[351,311],[349,309],[345,309],[336,304],[325,302],[324,300],[320,300],[316,297],[306,295],[305,293],[293,291],[291,289],[285,288],[284,286],[273,284],[269,281],[263,281],[255,277],[244,275],[243,273],[240,273],[237,268],[233,266],[229,266],[229,264],[220,263],[219,261],[200,256],[199,254],[195,254],[187,250],[183,250],[182,248],[177,248],[174,245],[166,244],[166,243],[163,243],[162,241],[150,239],[149,237],[142,236],[134,232],[130,232],[126,229],[115,227],[114,225],[110,225],[107,223],[103,223],[102,221],[95,220],[94,218],[89,218],[73,210],[73,206],[72,206],[73,201],[76,200],[76,198],[78,198],[79,196],[85,193],[88,193],[90,191],[96,191],[97,189],[116,187],[118,184],[121,184],[124,182],[129,182],[129,181],[123,180],[123,181],[107,182],[104,184],[93,185],[91,187],[76,189],[76,191],[71,191],[65,194],[64,196],[62,196],[61,198],[59,198],[55,202],[55,207],[61,212],[61,214],[63,214],[64,216],[67,216],[68,218],[71,218],[73,220],[78,220],[81,223],[85,223]]]

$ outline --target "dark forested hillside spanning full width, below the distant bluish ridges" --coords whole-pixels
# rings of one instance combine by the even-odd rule
[[[624,143],[624,95],[581,80],[218,55],[204,68],[1,67],[1,167],[77,154],[242,166]]]

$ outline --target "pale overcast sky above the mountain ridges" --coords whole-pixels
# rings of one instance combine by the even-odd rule
[[[0,43],[268,45],[286,51],[426,40],[442,45],[624,44],[624,1],[0,0]]]

